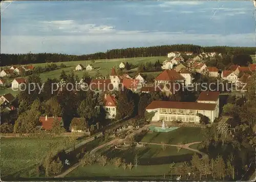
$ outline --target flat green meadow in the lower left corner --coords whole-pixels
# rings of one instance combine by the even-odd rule
[[[1,138],[1,177],[27,176],[36,159],[40,161],[51,148],[57,151],[70,146],[67,137]]]

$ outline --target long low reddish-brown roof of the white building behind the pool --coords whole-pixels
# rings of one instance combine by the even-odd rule
[[[160,101],[154,100],[146,107],[148,109],[190,109],[190,110],[215,110],[215,103],[199,103],[199,102],[176,102],[176,101]]]

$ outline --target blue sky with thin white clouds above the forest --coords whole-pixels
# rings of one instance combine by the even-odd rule
[[[252,1],[5,1],[1,53],[91,54],[166,44],[254,46]]]

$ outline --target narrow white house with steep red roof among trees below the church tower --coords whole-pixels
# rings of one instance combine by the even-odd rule
[[[106,111],[106,119],[115,119],[117,112],[115,95],[104,94],[104,102],[100,102],[100,105]]]

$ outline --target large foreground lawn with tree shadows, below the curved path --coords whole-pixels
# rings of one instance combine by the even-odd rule
[[[169,174],[169,164],[175,162],[178,166],[183,161],[189,161],[194,154],[193,151],[181,149],[177,152],[176,147],[167,146],[165,150],[161,145],[148,145],[139,149],[117,150],[110,149],[102,154],[108,158],[120,157],[126,163],[134,164],[137,154],[138,166],[137,169],[133,166],[132,170],[123,169],[122,166],[116,168],[112,164],[107,164],[102,167],[98,164],[82,167],[69,173],[65,179],[164,179]],[[173,171],[173,174],[175,172]]]

